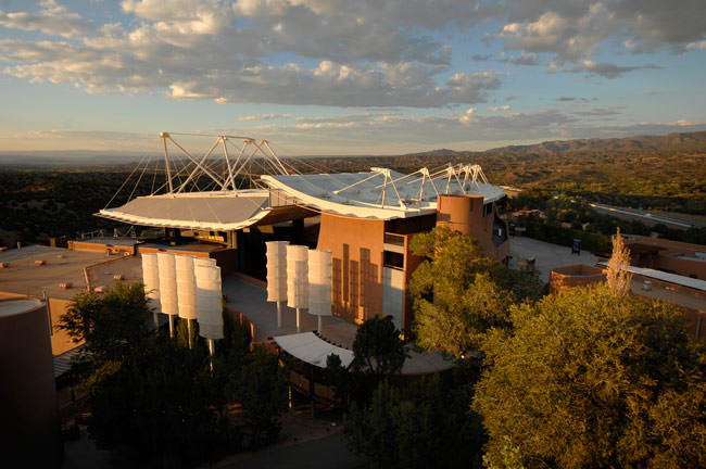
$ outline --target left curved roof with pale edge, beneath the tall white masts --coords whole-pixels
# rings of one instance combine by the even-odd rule
[[[269,191],[188,192],[147,195],[98,213],[133,225],[184,229],[237,230],[269,213]]]

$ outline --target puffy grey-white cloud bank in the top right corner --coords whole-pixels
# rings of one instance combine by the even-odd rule
[[[494,37],[509,50],[553,54],[555,67],[588,60],[610,38],[633,53],[663,46],[679,51],[706,38],[706,2],[699,0],[509,3]]]

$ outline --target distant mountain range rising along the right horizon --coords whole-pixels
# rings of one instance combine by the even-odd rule
[[[411,153],[405,156],[463,156],[468,154],[546,154],[563,152],[640,152],[640,151],[706,152],[706,130],[666,136],[638,136],[612,139],[554,140],[528,145],[501,147],[486,151],[454,151],[447,149]]]

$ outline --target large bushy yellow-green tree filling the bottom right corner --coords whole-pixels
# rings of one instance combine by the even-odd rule
[[[490,467],[706,467],[706,353],[683,312],[573,289],[512,308],[472,407]]]

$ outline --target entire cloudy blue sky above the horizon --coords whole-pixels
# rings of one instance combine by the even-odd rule
[[[0,0],[0,151],[152,152],[163,130],[283,155],[703,130],[704,17],[703,0]]]

